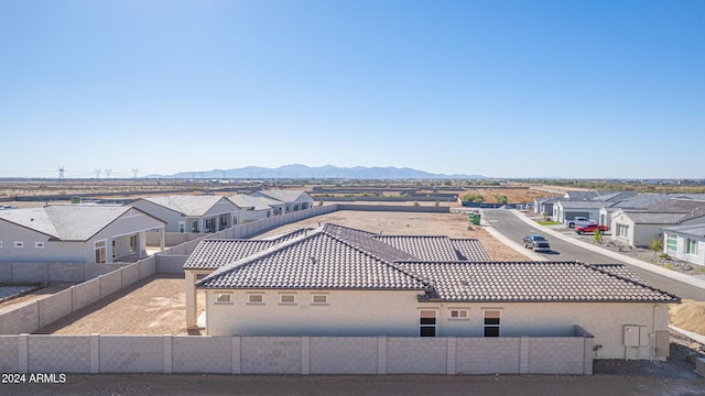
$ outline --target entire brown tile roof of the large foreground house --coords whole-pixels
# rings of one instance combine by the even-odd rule
[[[474,240],[380,237],[323,224],[279,243],[215,242],[199,244],[187,263],[204,265],[199,260],[205,260],[208,268],[220,266],[198,282],[199,288],[404,289],[423,292],[421,299],[446,301],[679,301],[619,264],[452,257],[451,251],[486,257]],[[220,252],[208,252],[218,248]]]

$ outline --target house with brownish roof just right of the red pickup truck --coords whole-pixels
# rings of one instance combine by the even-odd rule
[[[705,223],[705,201],[666,199],[641,210],[619,209],[612,213],[611,239],[631,246],[650,246],[662,239],[662,229]]]

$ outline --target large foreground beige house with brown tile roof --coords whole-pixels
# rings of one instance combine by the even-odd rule
[[[680,299],[622,265],[488,262],[473,240],[335,224],[290,237],[249,255],[238,241],[193,252],[187,271],[217,267],[197,282],[207,334],[564,337],[579,326],[599,359],[669,354]]]

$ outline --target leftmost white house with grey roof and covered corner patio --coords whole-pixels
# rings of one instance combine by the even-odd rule
[[[113,263],[147,256],[164,222],[130,206],[57,205],[0,211],[0,261]]]

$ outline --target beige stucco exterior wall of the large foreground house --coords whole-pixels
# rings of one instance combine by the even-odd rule
[[[655,356],[652,336],[649,344],[623,345],[623,326],[641,331],[668,330],[668,305],[648,302],[419,302],[417,292],[330,290],[328,304],[311,304],[319,290],[292,290],[295,305],[279,304],[281,290],[229,290],[231,302],[216,304],[215,294],[206,293],[206,331],[210,336],[330,336],[417,337],[419,310],[437,311],[436,336],[484,337],[484,311],[499,310],[502,338],[566,337],[581,326],[600,345],[598,359],[650,359]],[[261,294],[263,304],[248,304],[248,294]],[[380,304],[383,301],[383,304]],[[451,318],[452,309],[466,309],[467,319]],[[663,358],[663,356],[660,356]]]

